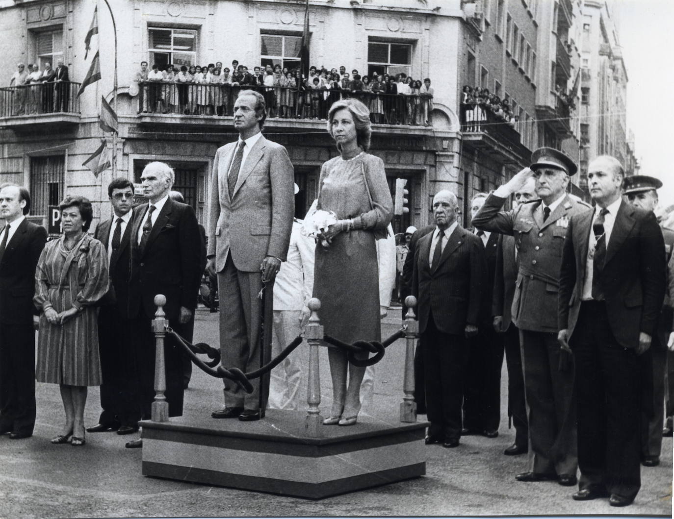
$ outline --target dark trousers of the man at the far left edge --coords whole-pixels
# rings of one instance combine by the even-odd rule
[[[35,330],[0,323],[0,430],[32,434],[35,426]]]

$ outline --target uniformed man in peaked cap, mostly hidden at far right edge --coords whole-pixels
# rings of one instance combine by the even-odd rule
[[[623,194],[634,207],[646,209],[646,211],[655,211],[658,207],[657,190],[663,186],[663,183],[652,176],[634,175],[626,176],[623,180]],[[674,230],[661,227],[663,238],[665,238],[665,256],[667,265],[674,267],[670,262],[672,250],[674,248]],[[671,286],[674,272],[667,271],[668,285]],[[667,339],[672,331],[672,306],[674,294],[665,294],[665,303],[663,310],[656,325],[656,333],[653,335],[651,347],[640,355],[644,380],[642,381],[643,407],[641,413],[641,462],[644,466],[657,466],[660,464],[660,453],[663,443],[663,426],[665,410],[663,400],[665,400],[665,371],[668,362],[671,370],[671,360],[667,358]],[[670,355],[671,357],[671,355]],[[647,403],[650,401],[650,405]],[[671,409],[673,402],[671,396],[667,399],[668,407]],[[671,412],[668,409],[668,415]]]

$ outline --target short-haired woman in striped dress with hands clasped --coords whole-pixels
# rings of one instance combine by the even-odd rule
[[[40,310],[35,378],[61,387],[65,425],[51,442],[82,446],[87,387],[101,382],[94,305],[108,291],[108,255],[86,234],[93,215],[88,199],[65,197],[59,209],[64,235],[47,243],[35,273],[33,301]]]

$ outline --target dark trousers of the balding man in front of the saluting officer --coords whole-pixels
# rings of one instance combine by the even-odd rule
[[[634,498],[641,487],[638,357],[613,337],[604,302],[580,304],[571,347],[576,359],[579,487]]]

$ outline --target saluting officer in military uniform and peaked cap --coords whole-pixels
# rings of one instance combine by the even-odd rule
[[[578,170],[567,155],[543,147],[534,151],[531,160],[530,168],[524,168],[489,195],[472,223],[481,230],[514,236],[517,248],[512,320],[520,329],[530,470],[516,475],[516,479],[550,479],[573,486],[578,469],[574,373],[572,364],[560,364],[557,291],[569,220],[590,206],[565,192],[570,176]],[[510,195],[531,176],[536,179],[539,200],[501,211]]]

